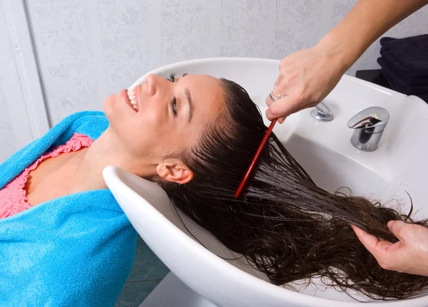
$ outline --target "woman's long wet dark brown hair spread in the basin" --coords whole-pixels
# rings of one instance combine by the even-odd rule
[[[395,242],[387,222],[415,222],[363,197],[317,187],[273,133],[243,193],[234,198],[267,128],[248,93],[233,81],[220,81],[224,113],[182,156],[193,179],[161,184],[173,205],[275,285],[321,278],[374,299],[426,290],[428,277],[382,269],[350,227]]]

